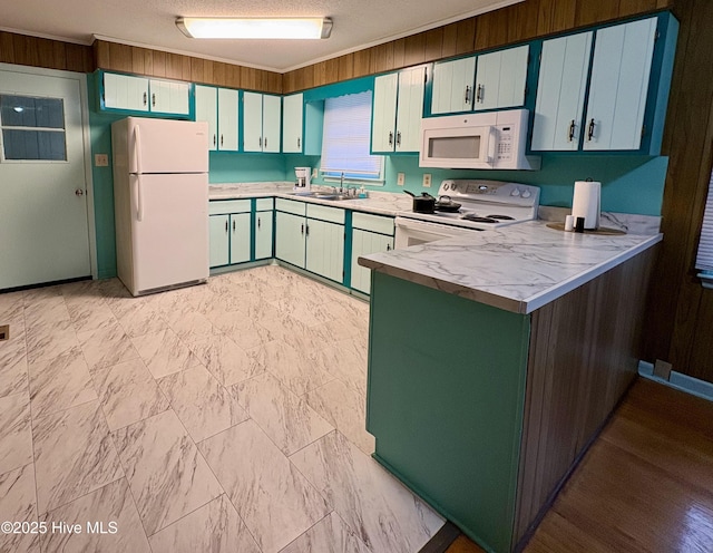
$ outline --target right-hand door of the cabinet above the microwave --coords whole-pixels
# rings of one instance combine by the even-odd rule
[[[525,104],[529,46],[478,56],[473,109],[518,107]]]

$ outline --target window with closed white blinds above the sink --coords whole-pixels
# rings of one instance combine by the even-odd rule
[[[369,153],[371,91],[328,98],[324,101],[322,174],[361,181],[383,181],[383,157]]]

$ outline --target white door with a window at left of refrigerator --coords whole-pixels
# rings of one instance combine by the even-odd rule
[[[0,70],[0,290],[91,275],[84,86]]]

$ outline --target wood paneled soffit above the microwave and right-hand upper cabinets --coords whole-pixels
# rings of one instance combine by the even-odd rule
[[[438,59],[524,42],[671,8],[673,0],[525,0],[284,74],[285,94]]]

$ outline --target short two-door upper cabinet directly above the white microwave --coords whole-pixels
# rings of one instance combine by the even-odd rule
[[[431,115],[525,105],[528,56],[525,45],[434,64]]]

